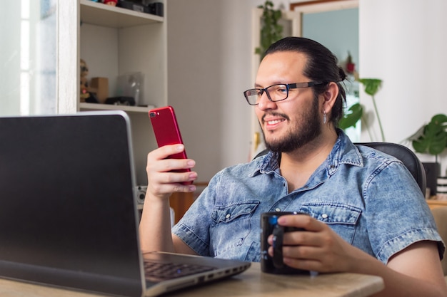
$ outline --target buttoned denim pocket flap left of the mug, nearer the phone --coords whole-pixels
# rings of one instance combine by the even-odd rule
[[[236,219],[249,218],[258,205],[258,201],[252,201],[216,207],[211,213],[211,219],[213,219],[216,224],[219,224],[230,223]]]

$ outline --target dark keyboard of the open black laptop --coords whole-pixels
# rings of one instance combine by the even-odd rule
[[[144,273],[148,281],[166,281],[190,274],[211,271],[214,267],[194,264],[174,264],[144,261]]]

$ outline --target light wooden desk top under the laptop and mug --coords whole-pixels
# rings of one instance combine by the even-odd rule
[[[253,263],[237,276],[198,288],[168,294],[172,297],[228,297],[228,296],[306,296],[306,297],[366,297],[383,289],[378,276],[355,273],[321,274],[319,276],[277,276],[261,272]],[[61,288],[38,286],[0,279],[2,297],[98,297],[99,295],[68,291]]]

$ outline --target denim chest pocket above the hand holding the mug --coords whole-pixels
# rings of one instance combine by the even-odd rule
[[[333,231],[349,243],[353,242],[361,209],[346,204],[316,203],[303,204],[301,212],[328,224]]]

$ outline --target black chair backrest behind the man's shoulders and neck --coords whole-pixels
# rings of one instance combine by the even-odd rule
[[[365,145],[367,147],[372,147],[375,150],[380,150],[381,152],[384,152],[388,155],[396,157],[396,159],[398,160],[401,160],[401,162],[403,162],[403,165],[405,165],[411,175],[413,175],[414,179],[418,183],[419,188],[421,189],[422,194],[425,197],[426,171],[423,169],[423,165],[416,154],[408,147],[391,142],[358,142],[356,143],[356,145]],[[256,157],[265,155],[267,152],[268,150],[263,150],[262,152],[259,152]]]

